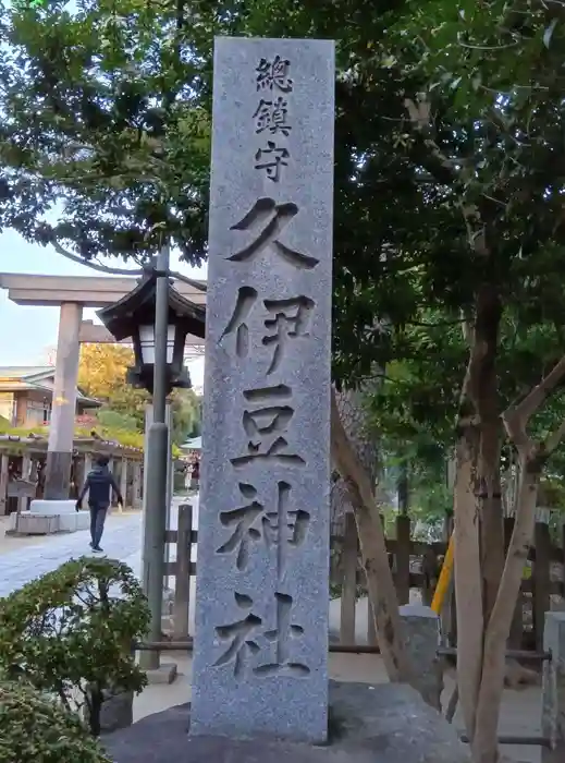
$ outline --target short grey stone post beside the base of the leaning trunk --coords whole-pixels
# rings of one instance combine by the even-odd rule
[[[440,618],[422,604],[405,604],[400,608],[404,626],[404,643],[415,669],[415,689],[423,700],[441,711],[443,670],[438,656]]]

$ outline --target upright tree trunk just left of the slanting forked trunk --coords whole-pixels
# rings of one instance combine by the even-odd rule
[[[494,602],[499,583],[493,574],[496,561],[491,565],[490,556],[496,560],[499,555],[504,554],[500,498],[498,517],[494,502],[496,495],[500,496],[500,475],[496,476],[496,470],[500,474],[500,410],[495,361],[501,315],[502,306],[496,289],[490,283],[483,283],[477,292],[472,330],[467,326],[465,331],[469,343],[469,362],[457,421],[454,500],[455,592],[459,603],[457,682],[465,726],[471,742],[481,680],[484,604],[487,601],[491,604]],[[500,533],[496,529],[498,520],[501,524]],[[491,540],[489,531],[492,528]],[[488,560],[486,567],[481,565],[481,556],[483,562]],[[483,569],[489,572],[487,585],[483,584]],[[496,588],[493,592],[494,584]]]

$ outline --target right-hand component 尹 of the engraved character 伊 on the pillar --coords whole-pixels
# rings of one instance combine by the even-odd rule
[[[265,320],[265,328],[271,334],[262,338],[265,347],[274,346],[271,364],[267,375],[277,371],[281,364],[288,339],[307,337],[314,300],[300,294],[288,300],[265,300],[263,304],[273,316]]]

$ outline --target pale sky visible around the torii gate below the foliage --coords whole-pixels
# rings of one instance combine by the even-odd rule
[[[171,267],[183,275],[206,278],[206,266],[192,268],[180,264],[172,254]],[[112,263],[109,262],[109,265]],[[116,262],[118,267],[125,267]],[[0,272],[24,272],[52,276],[102,276],[85,265],[78,265],[58,254],[51,246],[29,244],[19,233],[0,233]],[[100,323],[94,310],[84,311],[85,319]],[[42,365],[49,352],[57,347],[57,307],[27,307],[16,305],[0,289],[0,366]],[[197,359],[188,364],[193,385],[201,388],[204,361]]]

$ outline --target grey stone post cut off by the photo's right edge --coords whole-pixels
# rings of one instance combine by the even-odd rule
[[[542,763],[563,763],[565,760],[565,613],[545,613],[543,649],[551,659],[543,664],[541,689],[541,731],[551,741],[543,749]]]

